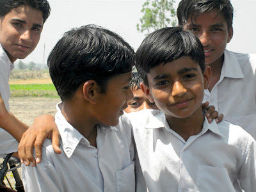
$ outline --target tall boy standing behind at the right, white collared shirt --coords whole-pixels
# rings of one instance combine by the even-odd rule
[[[212,69],[204,101],[256,138],[256,54],[227,51],[233,12],[228,0],[182,0],[177,17],[182,28],[200,39],[205,65]]]

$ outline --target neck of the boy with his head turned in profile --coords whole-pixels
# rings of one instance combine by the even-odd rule
[[[90,145],[96,147],[97,122],[81,102],[74,99],[62,102],[61,113],[67,122],[86,138]],[[86,114],[86,115],[85,115]]]

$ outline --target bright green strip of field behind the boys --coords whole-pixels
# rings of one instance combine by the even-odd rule
[[[58,98],[53,84],[10,84],[11,97]]]

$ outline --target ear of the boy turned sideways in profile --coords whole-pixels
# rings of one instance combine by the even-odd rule
[[[83,94],[84,99],[88,100],[92,104],[97,102],[97,98],[99,97],[99,88],[94,80],[88,80],[83,84]]]

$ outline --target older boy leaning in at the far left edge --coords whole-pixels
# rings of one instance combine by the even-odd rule
[[[0,0],[0,93],[9,111],[9,77],[13,63],[24,59],[38,44],[45,20],[50,15],[46,0]],[[6,115],[7,114],[7,115]],[[0,127],[17,141],[28,126],[10,113],[0,113]],[[0,128],[0,157],[17,152],[17,141]]]

